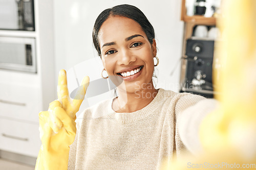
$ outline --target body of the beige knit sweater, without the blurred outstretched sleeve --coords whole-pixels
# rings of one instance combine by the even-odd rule
[[[116,113],[113,99],[77,118],[68,169],[159,169],[166,159],[187,151],[176,119],[205,98],[160,88],[150,104],[132,113]]]

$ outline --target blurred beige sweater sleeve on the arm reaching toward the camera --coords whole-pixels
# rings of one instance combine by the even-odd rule
[[[203,118],[215,110],[217,105],[218,102],[215,99],[202,99],[182,110],[177,116],[179,137],[190,153],[194,155],[203,153],[199,128]]]

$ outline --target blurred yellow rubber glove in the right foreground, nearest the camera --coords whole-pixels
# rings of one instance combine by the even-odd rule
[[[200,127],[205,155],[164,169],[255,169],[256,1],[223,0],[222,16],[213,72],[221,105]]]

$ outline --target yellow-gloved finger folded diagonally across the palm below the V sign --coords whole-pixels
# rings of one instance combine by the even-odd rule
[[[61,120],[63,127],[66,129],[69,135],[76,134],[76,123],[73,118],[71,118],[64,109],[61,107],[56,107],[54,109],[54,114]]]

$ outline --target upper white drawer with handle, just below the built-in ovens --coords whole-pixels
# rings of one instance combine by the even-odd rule
[[[0,116],[38,122],[40,103],[37,87],[0,83]]]

